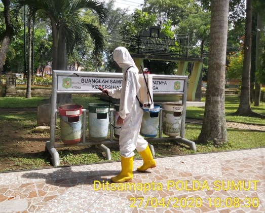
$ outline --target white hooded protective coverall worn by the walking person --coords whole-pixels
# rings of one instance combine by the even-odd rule
[[[120,153],[122,157],[129,158],[134,156],[135,149],[141,152],[148,145],[147,141],[139,135],[143,116],[143,110],[136,98],[140,89],[139,70],[125,47],[116,48],[113,51],[113,59],[123,68],[123,83],[122,87],[109,90],[108,95],[120,98],[119,115],[124,119],[119,137]]]

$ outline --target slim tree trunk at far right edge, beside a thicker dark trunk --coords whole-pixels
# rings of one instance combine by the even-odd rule
[[[263,28],[263,23],[261,21],[261,15],[260,13],[257,14],[257,33],[256,33],[256,70],[259,69],[261,60],[260,55],[262,52],[262,48],[260,47],[260,30]],[[260,82],[257,78],[257,75],[255,75],[255,96],[254,96],[254,106],[259,107],[260,103]]]

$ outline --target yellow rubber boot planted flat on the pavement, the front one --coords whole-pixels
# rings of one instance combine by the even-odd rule
[[[132,181],[133,174],[133,157],[125,158],[121,156],[122,161],[122,171],[117,176],[111,177],[111,181],[114,183],[123,183]]]

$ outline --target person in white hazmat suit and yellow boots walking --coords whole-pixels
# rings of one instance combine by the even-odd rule
[[[121,125],[119,146],[121,154],[122,171],[111,177],[114,183],[131,181],[133,178],[133,156],[136,149],[143,159],[143,165],[138,167],[138,171],[145,171],[148,168],[156,167],[147,141],[139,135],[143,110],[136,98],[140,84],[139,70],[136,67],[130,53],[125,47],[118,47],[113,51],[114,61],[123,68],[122,87],[116,90],[103,90],[113,98],[120,98],[120,110],[117,124]]]

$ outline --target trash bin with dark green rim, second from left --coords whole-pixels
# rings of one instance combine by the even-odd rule
[[[88,104],[88,135],[91,141],[101,141],[108,133],[108,104]]]

